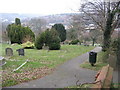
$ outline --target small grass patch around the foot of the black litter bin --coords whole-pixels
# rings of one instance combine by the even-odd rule
[[[107,59],[107,57],[105,57],[105,52],[101,51],[97,55],[97,61],[94,66],[91,66],[91,64],[88,61],[86,61],[83,64],[81,64],[80,67],[98,71],[103,66],[106,66],[108,64],[108,63],[106,63],[106,61],[104,61],[106,59]]]

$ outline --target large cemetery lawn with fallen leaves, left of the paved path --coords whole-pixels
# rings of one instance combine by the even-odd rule
[[[5,48],[13,49],[13,56],[5,55]],[[6,58],[6,64],[2,66],[2,87],[12,86],[21,82],[27,82],[33,79],[41,78],[52,73],[52,71],[67,60],[75,58],[83,53],[92,50],[94,47],[80,45],[62,45],[61,50],[37,50],[25,49],[25,56],[19,56],[17,49],[21,45],[2,44],[2,56]],[[26,60],[28,62],[16,72]]]

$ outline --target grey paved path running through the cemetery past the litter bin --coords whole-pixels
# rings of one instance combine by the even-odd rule
[[[92,51],[99,52],[100,50],[100,47],[96,47]],[[50,75],[10,88],[64,88],[76,85],[77,80],[80,83],[93,82],[96,71],[80,68],[80,64],[88,60],[88,57],[89,53],[87,52],[65,62]]]

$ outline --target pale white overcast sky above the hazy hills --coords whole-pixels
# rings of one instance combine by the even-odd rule
[[[0,0],[0,13],[60,14],[78,11],[82,0]]]

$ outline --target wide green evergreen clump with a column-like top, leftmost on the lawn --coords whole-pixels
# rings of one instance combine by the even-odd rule
[[[32,42],[35,39],[35,35],[32,32],[32,30],[29,27],[23,27],[21,26],[20,19],[15,19],[15,24],[9,24],[6,28],[8,37],[11,41],[11,43],[23,43],[26,36],[31,37]]]

